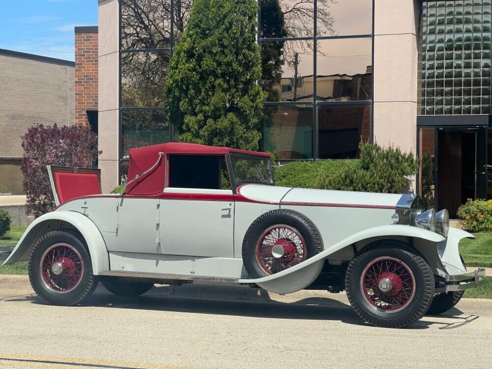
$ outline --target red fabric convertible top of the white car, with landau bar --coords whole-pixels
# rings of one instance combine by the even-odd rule
[[[131,181],[137,174],[142,174],[151,168],[159,159],[159,153],[164,155],[159,160],[157,166],[141,180],[132,182],[126,187],[129,195],[153,195],[162,192],[164,188],[164,171],[167,154],[189,154],[189,155],[226,155],[226,154],[246,154],[270,157],[268,153],[255,151],[231,149],[223,146],[206,146],[198,144],[185,144],[180,142],[168,142],[154,146],[147,146],[130,150],[130,166],[128,168],[128,181]],[[183,168],[186,170],[186,168]]]

